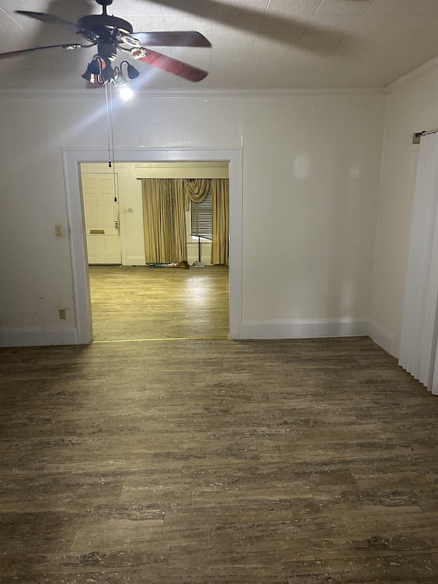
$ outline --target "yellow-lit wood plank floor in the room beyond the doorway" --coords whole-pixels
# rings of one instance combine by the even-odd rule
[[[228,338],[228,266],[89,266],[96,341]]]

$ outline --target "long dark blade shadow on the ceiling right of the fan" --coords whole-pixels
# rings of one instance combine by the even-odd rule
[[[181,0],[148,1],[198,16],[198,3],[196,2],[184,2],[181,4]],[[277,16],[276,14],[259,12],[255,8],[235,6],[231,1],[203,0],[202,4],[204,7],[214,10],[214,19],[218,23],[252,33],[257,32],[260,36],[272,40],[279,40],[287,45],[292,45],[292,47],[305,47],[309,51],[324,51],[322,47],[312,47],[309,40],[305,40],[305,35],[301,35],[302,31],[307,29],[308,25],[303,21],[299,21],[298,18]],[[222,8],[225,10],[222,10]],[[259,24],[255,25],[257,21],[259,21]],[[309,31],[313,36],[324,35],[327,42],[332,40],[333,43],[341,40],[345,36],[342,33],[320,25],[310,24]]]

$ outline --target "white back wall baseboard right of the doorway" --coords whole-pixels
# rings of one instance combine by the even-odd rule
[[[315,318],[296,320],[244,320],[242,339],[300,339],[368,335],[365,318]]]

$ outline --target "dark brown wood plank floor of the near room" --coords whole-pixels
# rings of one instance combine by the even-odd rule
[[[0,349],[0,584],[438,582],[438,398],[369,338]]]

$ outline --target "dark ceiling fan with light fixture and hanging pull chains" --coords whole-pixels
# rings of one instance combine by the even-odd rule
[[[157,31],[134,32],[131,23],[107,14],[107,6],[113,0],[96,0],[102,6],[102,14],[90,14],[82,16],[77,23],[70,23],[62,18],[44,12],[27,12],[16,10],[16,14],[23,14],[38,21],[63,27],[75,32],[89,44],[68,43],[64,45],[48,45],[46,47],[33,47],[21,51],[9,51],[0,53],[0,59],[24,55],[33,51],[44,49],[87,49],[97,47],[94,59],[88,64],[87,71],[82,75],[90,87],[99,87],[111,82],[115,85],[124,84],[128,79],[134,79],[140,75],[139,71],[129,62],[126,75],[120,67],[112,67],[112,62],[117,58],[117,51],[127,53],[130,58],[160,68],[168,73],[188,79],[188,81],[201,81],[207,76],[203,71],[183,61],[157,53],[146,47],[211,47],[211,43],[205,36],[196,31]]]

